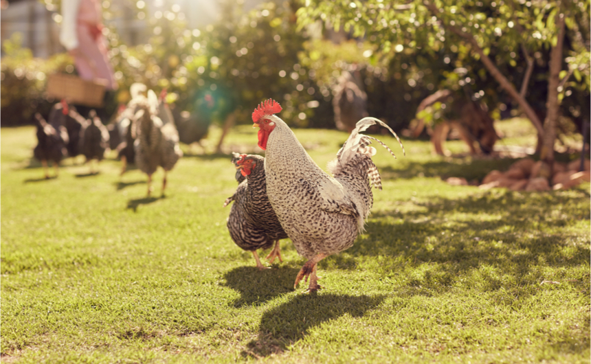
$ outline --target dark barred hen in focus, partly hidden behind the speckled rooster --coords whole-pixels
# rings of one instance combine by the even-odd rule
[[[259,155],[234,155],[232,162],[245,179],[238,185],[236,193],[224,203],[225,207],[234,201],[227,218],[227,229],[238,247],[252,252],[258,269],[265,269],[256,253],[257,249],[269,249],[275,243],[267,259],[269,263],[275,258],[282,262],[279,240],[287,238],[267,198],[265,159]]]

